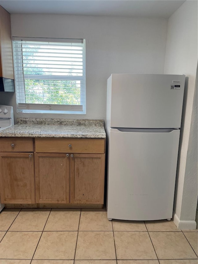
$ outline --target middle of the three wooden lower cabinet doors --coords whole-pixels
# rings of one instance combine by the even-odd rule
[[[36,203],[69,203],[69,156],[35,153]]]

